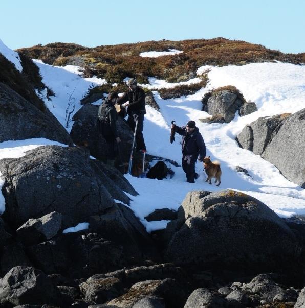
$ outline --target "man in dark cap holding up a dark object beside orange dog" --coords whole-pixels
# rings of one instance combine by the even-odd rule
[[[182,168],[186,173],[186,181],[194,183],[198,174],[195,173],[195,164],[199,155],[199,160],[203,160],[206,155],[206,148],[203,137],[196,127],[195,121],[188,121],[186,126],[179,127],[172,124],[171,127],[182,135]]]

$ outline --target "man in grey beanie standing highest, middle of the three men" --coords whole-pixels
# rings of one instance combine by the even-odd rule
[[[117,100],[117,104],[128,107],[127,122],[133,131],[135,131],[136,121],[138,121],[136,132],[137,151],[146,152],[146,146],[142,133],[144,128],[144,114],[146,113],[145,92],[137,84],[136,79],[130,78],[128,80],[129,91]]]

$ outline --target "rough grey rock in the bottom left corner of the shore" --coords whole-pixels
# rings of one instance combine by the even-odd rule
[[[0,279],[2,304],[60,304],[59,292],[43,272],[17,266]]]

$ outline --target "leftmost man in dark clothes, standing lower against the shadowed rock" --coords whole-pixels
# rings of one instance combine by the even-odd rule
[[[98,121],[100,132],[106,140],[108,146],[107,164],[114,165],[117,156],[117,144],[121,139],[117,131],[117,111],[115,103],[118,98],[117,92],[110,92],[108,98],[98,108]]]

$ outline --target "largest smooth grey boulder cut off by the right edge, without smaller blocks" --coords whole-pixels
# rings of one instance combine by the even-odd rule
[[[274,133],[262,157],[289,180],[305,188],[305,108],[288,116]],[[280,153],[280,155],[279,155]]]

